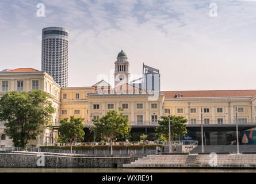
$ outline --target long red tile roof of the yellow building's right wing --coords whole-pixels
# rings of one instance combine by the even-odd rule
[[[256,90],[205,90],[205,91],[162,91],[165,98],[175,98],[178,93],[186,97],[253,97]]]

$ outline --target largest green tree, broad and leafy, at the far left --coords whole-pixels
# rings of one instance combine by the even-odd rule
[[[54,108],[49,95],[41,90],[7,92],[0,99],[0,121],[6,121],[5,133],[15,147],[26,147],[30,139],[40,135],[48,125]]]

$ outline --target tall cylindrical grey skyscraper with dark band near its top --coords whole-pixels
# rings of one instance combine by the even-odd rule
[[[54,77],[61,87],[67,87],[68,30],[48,27],[42,30],[41,71]]]

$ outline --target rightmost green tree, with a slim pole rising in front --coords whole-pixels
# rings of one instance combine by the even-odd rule
[[[171,143],[175,136],[185,136],[187,133],[186,129],[186,118],[182,116],[170,116],[170,137]],[[161,116],[161,120],[158,120],[159,126],[156,127],[155,131],[158,132],[158,136],[161,139],[169,140],[169,117]],[[171,146],[171,145],[170,145]]]

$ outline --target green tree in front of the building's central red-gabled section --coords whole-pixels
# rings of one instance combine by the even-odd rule
[[[101,139],[110,141],[112,155],[113,141],[129,136],[131,127],[128,125],[128,121],[128,117],[125,117],[123,113],[118,114],[116,110],[110,110],[105,116],[98,118],[98,120],[93,120],[94,126],[91,131],[95,131],[96,135],[100,136]]]

